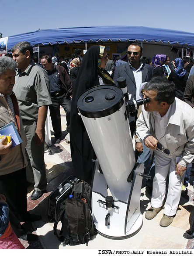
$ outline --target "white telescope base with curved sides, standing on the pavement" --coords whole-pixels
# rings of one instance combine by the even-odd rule
[[[143,219],[140,211],[140,193],[144,166],[135,167],[132,182],[129,182],[128,200],[113,200],[113,206],[107,208],[107,183],[103,173],[99,171],[96,161],[92,186],[92,214],[97,232],[110,239],[126,239],[132,237],[142,227]],[[125,191],[124,191],[125,192]]]

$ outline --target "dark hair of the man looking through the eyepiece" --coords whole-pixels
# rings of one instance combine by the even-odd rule
[[[171,105],[174,102],[176,90],[175,84],[169,81],[165,76],[154,77],[145,84],[145,90],[156,91],[155,100],[160,104],[162,101]]]

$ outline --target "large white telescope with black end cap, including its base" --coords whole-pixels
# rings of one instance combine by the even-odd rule
[[[97,156],[91,198],[94,224],[99,234],[111,239],[128,238],[142,227],[144,165],[135,162],[128,122],[138,104],[125,101],[123,95],[119,87],[101,85],[84,92],[77,102]]]

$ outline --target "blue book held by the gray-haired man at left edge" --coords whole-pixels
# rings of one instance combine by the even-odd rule
[[[8,123],[7,125],[1,127],[0,134],[6,135],[6,136],[11,136],[11,139],[12,139],[11,148],[22,143],[21,137],[20,137],[19,133],[17,132],[13,122]]]

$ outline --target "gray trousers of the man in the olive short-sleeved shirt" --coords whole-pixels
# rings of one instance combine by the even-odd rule
[[[30,183],[35,183],[34,187],[36,190],[44,191],[47,185],[44,160],[45,144],[43,142],[40,146],[35,145],[35,122],[25,122],[24,130],[28,141],[26,146],[28,159],[28,166],[26,167],[27,180]],[[32,173],[34,177],[32,177]]]

